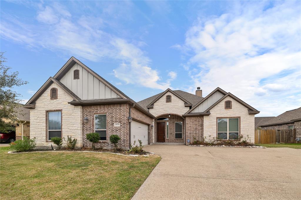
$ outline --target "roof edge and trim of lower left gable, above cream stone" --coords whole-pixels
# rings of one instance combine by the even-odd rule
[[[23,106],[24,108],[31,108],[26,105],[31,105],[36,102],[36,100],[48,89],[49,86],[51,86],[52,83],[56,83],[59,85],[65,92],[67,92],[70,96],[72,96],[75,100],[80,100],[80,98],[74,94],[69,88],[64,86],[63,83],[61,83],[58,80],[55,80],[53,77],[49,77],[48,80],[40,87],[40,89],[28,100],[28,102]]]

